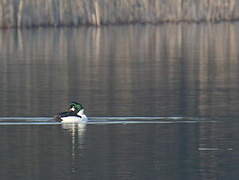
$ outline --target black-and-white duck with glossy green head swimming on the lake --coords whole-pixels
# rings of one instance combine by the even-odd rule
[[[82,123],[88,121],[83,105],[76,101],[70,103],[68,111],[58,113],[54,119],[61,123]]]

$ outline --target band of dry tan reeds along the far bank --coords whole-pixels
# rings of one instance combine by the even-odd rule
[[[0,0],[0,27],[217,22],[239,18],[237,0]]]

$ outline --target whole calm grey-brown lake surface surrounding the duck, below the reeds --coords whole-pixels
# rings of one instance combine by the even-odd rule
[[[238,34],[239,24],[0,31],[1,179],[238,179]],[[72,100],[90,123],[50,122]]]

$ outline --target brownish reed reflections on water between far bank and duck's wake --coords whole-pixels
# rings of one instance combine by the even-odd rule
[[[1,116],[237,116],[239,24],[0,32]]]

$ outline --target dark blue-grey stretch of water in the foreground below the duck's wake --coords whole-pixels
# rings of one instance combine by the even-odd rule
[[[236,121],[0,126],[0,175],[9,180],[233,180],[237,134]]]

